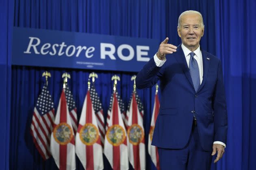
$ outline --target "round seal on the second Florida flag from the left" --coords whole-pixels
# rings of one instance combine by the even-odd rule
[[[80,129],[79,137],[85,145],[93,145],[99,138],[99,131],[92,123],[86,123]]]

